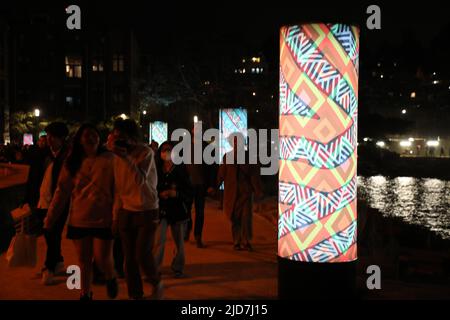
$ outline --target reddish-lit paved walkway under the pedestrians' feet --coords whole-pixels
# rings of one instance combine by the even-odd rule
[[[208,201],[205,212],[205,249],[193,242],[186,244],[186,278],[175,279],[169,265],[174,243],[168,235],[163,265],[165,299],[276,299],[276,226],[260,215],[254,215],[254,252],[234,251],[229,221],[218,209],[217,202]],[[65,233],[64,233],[65,236]],[[44,260],[44,239],[38,240],[38,266]],[[64,239],[66,266],[76,264],[70,240]],[[59,277],[54,286],[43,286],[35,274],[38,268],[9,268],[0,257],[0,299],[78,299],[78,290],[68,290],[66,278]],[[127,299],[126,284],[119,280],[118,299]],[[145,284],[145,294],[151,292]],[[94,299],[107,299],[104,286],[94,286]]]

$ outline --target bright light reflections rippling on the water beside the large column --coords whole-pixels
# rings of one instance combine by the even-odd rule
[[[360,176],[358,197],[383,215],[401,217],[450,238],[450,181]]]

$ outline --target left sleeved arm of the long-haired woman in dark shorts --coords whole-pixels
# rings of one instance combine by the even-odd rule
[[[66,166],[63,165],[55,194],[53,195],[52,202],[48,208],[47,217],[44,220],[44,228],[51,229],[55,221],[62,214],[69,202],[73,187],[73,178]]]

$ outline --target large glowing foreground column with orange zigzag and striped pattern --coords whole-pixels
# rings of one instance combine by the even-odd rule
[[[349,262],[356,250],[359,29],[280,32],[278,255]]]

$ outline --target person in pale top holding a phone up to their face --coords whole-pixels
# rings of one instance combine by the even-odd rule
[[[144,296],[139,267],[153,285],[153,298],[162,298],[162,282],[153,248],[159,222],[155,156],[140,143],[140,131],[131,119],[118,120],[107,146],[115,154],[116,205],[113,229],[122,240],[128,296]]]

